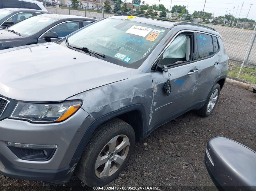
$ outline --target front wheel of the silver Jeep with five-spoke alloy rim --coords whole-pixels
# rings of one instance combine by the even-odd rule
[[[110,183],[124,169],[134,146],[135,132],[128,123],[115,118],[102,124],[82,154],[76,168],[77,176],[91,187]]]

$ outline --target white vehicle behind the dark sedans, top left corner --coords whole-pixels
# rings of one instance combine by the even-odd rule
[[[0,0],[0,8],[27,8],[47,11],[42,2],[34,0]]]

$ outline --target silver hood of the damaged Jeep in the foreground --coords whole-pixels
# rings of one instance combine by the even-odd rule
[[[129,68],[56,43],[2,50],[0,57],[0,94],[23,101],[61,101],[131,74]]]

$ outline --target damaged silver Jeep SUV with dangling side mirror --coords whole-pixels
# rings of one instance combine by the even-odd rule
[[[88,186],[115,179],[157,127],[209,116],[228,72],[213,28],[125,14],[0,54],[0,172]]]

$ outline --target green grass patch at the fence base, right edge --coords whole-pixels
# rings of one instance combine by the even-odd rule
[[[237,78],[240,67],[236,67],[235,71],[228,71],[228,76]],[[256,84],[256,70],[253,68],[242,68],[239,78]]]

